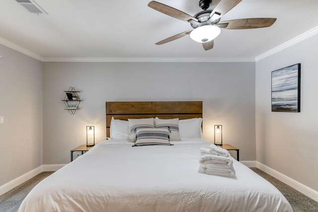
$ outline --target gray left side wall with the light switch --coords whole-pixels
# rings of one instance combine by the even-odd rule
[[[0,45],[0,186],[42,165],[42,63]]]

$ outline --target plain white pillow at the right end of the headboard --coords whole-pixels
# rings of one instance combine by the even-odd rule
[[[202,118],[179,120],[179,135],[184,138],[202,139]]]

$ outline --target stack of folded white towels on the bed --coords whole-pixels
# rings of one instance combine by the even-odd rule
[[[212,175],[234,177],[233,159],[228,150],[211,144],[209,148],[200,148],[200,172]]]

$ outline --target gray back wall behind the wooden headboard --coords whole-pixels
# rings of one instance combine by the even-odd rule
[[[256,159],[255,63],[46,62],[43,71],[43,164],[68,163],[87,125],[105,140],[105,101],[203,101],[204,138],[222,124],[240,160]],[[83,100],[75,115],[61,101],[70,86]]]

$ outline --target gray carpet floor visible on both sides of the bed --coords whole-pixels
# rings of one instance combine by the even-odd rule
[[[318,202],[257,168],[251,169],[278,188],[278,190],[286,197],[294,212],[318,212]],[[30,190],[38,182],[52,173],[53,172],[42,172],[0,196],[0,212],[16,212]]]

